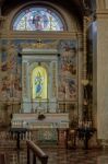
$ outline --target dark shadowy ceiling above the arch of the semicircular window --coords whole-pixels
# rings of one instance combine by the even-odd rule
[[[37,0],[37,2],[46,2],[48,0]],[[91,14],[95,8],[96,0],[50,0],[48,2],[52,2],[55,4],[62,5],[67,8],[68,10],[76,13],[82,17],[84,14]],[[36,2],[36,0],[26,0],[26,2]],[[25,3],[25,0],[0,0],[1,5],[1,13],[5,14],[5,12],[12,10],[13,8],[17,7],[17,4]]]

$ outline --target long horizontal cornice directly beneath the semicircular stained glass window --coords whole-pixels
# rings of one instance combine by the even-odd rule
[[[9,31],[5,33],[2,33],[1,38],[5,39],[37,39],[37,38],[50,38],[50,39],[71,39],[71,38],[77,38],[77,36],[81,36],[82,33],[79,32],[12,32]]]

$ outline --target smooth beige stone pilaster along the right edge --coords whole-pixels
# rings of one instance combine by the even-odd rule
[[[97,11],[97,138],[100,140],[108,140],[107,89],[108,89],[108,10]]]

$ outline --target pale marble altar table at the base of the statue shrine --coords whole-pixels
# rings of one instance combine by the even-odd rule
[[[13,114],[11,127],[26,128],[31,139],[32,137],[35,138],[37,143],[64,144],[64,147],[67,147],[65,140],[67,130],[69,129],[69,114],[47,113],[41,120],[38,119],[38,114]],[[35,136],[33,133],[35,133]]]

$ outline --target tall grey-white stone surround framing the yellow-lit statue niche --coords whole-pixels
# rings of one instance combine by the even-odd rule
[[[26,49],[22,54],[22,112],[56,113],[58,108],[58,51]]]

